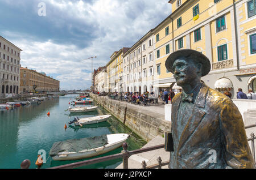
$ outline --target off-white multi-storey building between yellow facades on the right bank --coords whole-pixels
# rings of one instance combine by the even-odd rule
[[[152,29],[123,54],[125,92],[152,92],[154,82],[154,33]]]

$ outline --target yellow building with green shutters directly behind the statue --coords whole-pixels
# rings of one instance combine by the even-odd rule
[[[157,83],[175,85],[164,66],[168,55],[179,49],[195,49],[211,62],[210,73],[202,80],[210,88],[256,91],[256,2],[255,0],[171,0],[172,14],[155,29]],[[170,84],[171,83],[171,84]],[[154,83],[156,84],[156,83]]]

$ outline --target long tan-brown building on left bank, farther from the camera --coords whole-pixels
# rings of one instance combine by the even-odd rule
[[[20,67],[20,91],[22,93],[60,91],[60,82],[44,72],[39,73],[27,67]]]

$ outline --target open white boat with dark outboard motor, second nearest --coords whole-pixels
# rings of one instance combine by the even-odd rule
[[[79,119],[78,117],[75,117],[75,119],[73,121],[69,122],[69,125],[71,125],[72,123],[75,123],[76,126],[90,125],[90,124],[104,122],[109,117],[111,117],[111,114],[98,115],[98,116],[94,116],[94,117],[81,118],[81,119]]]

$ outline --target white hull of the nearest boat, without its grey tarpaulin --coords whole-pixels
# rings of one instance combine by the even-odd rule
[[[83,158],[89,158],[89,157],[94,157],[98,155],[102,155],[104,153],[107,153],[109,151],[113,151],[114,149],[117,149],[122,146],[122,144],[126,141],[127,138],[129,138],[129,134],[108,134],[106,135],[107,137],[107,142],[104,145],[101,145],[100,147],[96,148],[91,148],[91,149],[84,149],[82,151],[78,152],[72,152],[72,151],[65,151],[65,148],[60,148],[59,151],[56,153],[57,145],[61,147],[62,144],[67,144],[65,142],[57,142],[56,144],[53,144],[50,155],[52,156],[52,159],[55,161],[62,161],[62,160],[80,160]],[[97,137],[93,137],[97,138]],[[89,139],[89,138],[83,138],[83,139]],[[83,140],[83,139],[79,139]],[[92,138],[90,138],[92,139]],[[75,143],[77,140],[68,140],[68,146],[71,147],[72,149],[75,149],[72,147],[72,142]],[[81,143],[81,142],[80,142]],[[67,145],[64,147],[67,147]],[[56,155],[52,155],[55,153],[52,153],[52,149],[55,150]]]

